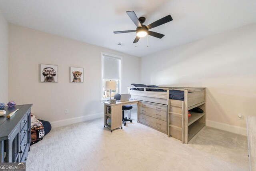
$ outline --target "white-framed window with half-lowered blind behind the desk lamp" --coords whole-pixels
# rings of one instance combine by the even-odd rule
[[[121,92],[122,57],[101,52],[100,100],[110,98],[110,90],[105,89],[106,81],[116,81],[116,89],[111,90],[111,97]]]

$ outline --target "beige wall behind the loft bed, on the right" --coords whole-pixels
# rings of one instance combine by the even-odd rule
[[[246,127],[237,115],[256,116],[256,24],[145,56],[141,81],[207,87],[207,121]]]

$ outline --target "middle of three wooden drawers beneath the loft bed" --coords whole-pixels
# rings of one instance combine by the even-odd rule
[[[142,113],[144,115],[148,115],[157,119],[161,119],[163,121],[167,121],[167,112],[157,109],[152,109],[149,107],[142,107],[139,106],[139,113]]]

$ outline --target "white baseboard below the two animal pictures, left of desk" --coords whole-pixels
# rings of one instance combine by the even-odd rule
[[[96,119],[96,118],[100,118],[100,117],[103,117],[103,113],[95,113],[92,115],[73,117],[73,118],[69,118],[69,119],[62,119],[62,120],[58,120],[58,121],[52,121],[50,123],[52,125],[52,128],[56,128],[56,127],[71,125],[74,123],[88,121],[88,120],[92,120],[92,119]]]

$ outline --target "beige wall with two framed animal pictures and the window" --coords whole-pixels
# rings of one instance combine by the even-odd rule
[[[33,103],[32,112],[40,119],[58,121],[97,113],[103,116],[101,51],[123,57],[122,93],[140,80],[140,58],[13,24],[9,29],[9,99],[19,104]],[[40,83],[39,64],[58,65],[58,83]],[[84,68],[83,84],[69,82],[70,66]],[[65,114],[64,109],[69,113]]]

